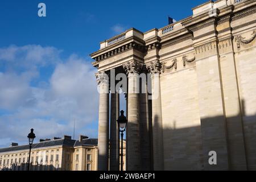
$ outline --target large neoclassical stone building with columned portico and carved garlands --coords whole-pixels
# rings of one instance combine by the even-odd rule
[[[208,1],[166,27],[131,28],[100,43],[91,55],[100,89],[98,169],[118,166],[113,69],[128,77],[127,170],[256,169],[255,9],[254,0]],[[142,72],[151,73],[146,83]]]

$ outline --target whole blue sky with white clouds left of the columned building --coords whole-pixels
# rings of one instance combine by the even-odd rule
[[[44,2],[47,17],[39,18]],[[135,27],[160,28],[205,1],[3,0],[0,6],[0,147],[72,135],[97,137],[96,70],[89,54]]]

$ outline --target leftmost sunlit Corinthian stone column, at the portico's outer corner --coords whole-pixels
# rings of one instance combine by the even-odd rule
[[[109,169],[109,77],[96,73],[100,102],[98,110],[98,171]]]

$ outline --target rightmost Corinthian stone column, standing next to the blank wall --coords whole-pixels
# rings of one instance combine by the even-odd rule
[[[163,126],[162,126],[162,103],[160,89],[160,74],[163,71],[159,60],[151,62],[147,66],[151,72],[152,82],[152,142],[154,170],[164,170],[163,163]]]

